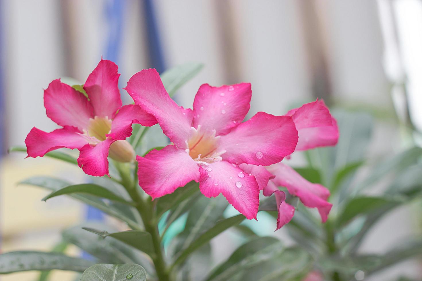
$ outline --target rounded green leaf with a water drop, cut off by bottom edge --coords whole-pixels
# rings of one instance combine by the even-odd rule
[[[81,281],[145,281],[146,278],[145,269],[135,263],[125,263],[122,265],[99,263],[85,270],[81,276]]]

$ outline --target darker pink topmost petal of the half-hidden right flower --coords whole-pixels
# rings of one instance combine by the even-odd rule
[[[286,115],[292,116],[296,128],[331,126],[331,114],[323,100],[303,104],[299,108],[289,110]]]

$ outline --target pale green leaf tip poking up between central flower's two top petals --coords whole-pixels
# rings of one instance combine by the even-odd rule
[[[204,67],[199,63],[186,63],[173,67],[163,72],[160,77],[165,89],[170,96],[193,77]]]

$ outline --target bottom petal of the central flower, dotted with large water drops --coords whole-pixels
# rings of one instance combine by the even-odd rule
[[[227,161],[201,166],[199,171],[199,189],[203,195],[210,198],[222,193],[247,219],[257,218],[260,191],[254,176]]]

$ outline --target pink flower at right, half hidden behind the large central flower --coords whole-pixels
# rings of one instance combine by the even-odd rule
[[[315,147],[336,145],[338,141],[338,126],[336,120],[322,100],[303,104],[302,107],[290,110],[287,115],[292,116],[298,129],[298,145],[296,150],[308,150]],[[298,196],[303,205],[317,208],[322,222],[327,220],[328,213],[333,206],[327,201],[330,191],[319,184],[308,182],[298,172],[284,163],[276,163],[266,167],[272,179],[265,177],[268,185],[263,187],[265,196],[275,193],[279,216],[277,229],[287,224],[295,213],[295,208],[284,201],[286,195],[279,190],[279,186],[287,187],[291,195]]]

